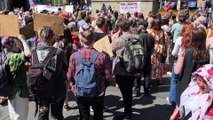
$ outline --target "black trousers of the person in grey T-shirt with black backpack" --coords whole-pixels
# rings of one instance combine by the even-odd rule
[[[56,120],[63,120],[63,105],[65,97],[59,99],[56,103],[51,103],[49,100],[41,100],[39,103],[38,120],[49,120],[49,108],[51,108],[51,116]]]

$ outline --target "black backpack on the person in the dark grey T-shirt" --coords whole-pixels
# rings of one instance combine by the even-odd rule
[[[36,49],[32,51],[32,67],[28,73],[27,85],[30,96],[36,103],[40,102],[41,99],[47,99],[50,102],[55,101],[56,81],[54,71],[49,69],[47,65],[56,51],[57,48],[51,48],[41,63],[39,63]]]

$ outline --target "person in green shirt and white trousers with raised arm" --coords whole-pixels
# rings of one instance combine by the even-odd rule
[[[23,35],[19,35],[18,38],[5,37],[1,42],[6,50],[12,83],[12,91],[8,96],[9,116],[11,120],[27,120],[29,109],[27,63],[31,58],[31,52]]]

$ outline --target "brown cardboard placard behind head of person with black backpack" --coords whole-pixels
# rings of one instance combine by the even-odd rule
[[[39,32],[43,26],[49,26],[53,29],[54,34],[64,35],[64,18],[60,16],[34,14],[34,30]]]

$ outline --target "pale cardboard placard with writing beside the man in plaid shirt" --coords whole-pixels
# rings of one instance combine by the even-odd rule
[[[94,43],[93,47],[98,50],[99,52],[105,52],[107,53],[110,57],[113,56],[112,53],[112,47],[109,42],[109,37],[106,35],[105,37],[101,38],[97,42]]]

